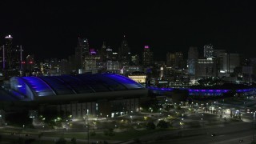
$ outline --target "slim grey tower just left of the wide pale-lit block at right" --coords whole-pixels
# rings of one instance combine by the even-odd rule
[[[191,46],[188,52],[188,73],[194,75],[198,63],[198,48]]]

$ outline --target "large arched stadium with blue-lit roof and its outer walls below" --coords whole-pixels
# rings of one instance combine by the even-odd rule
[[[138,111],[148,90],[119,74],[13,77],[10,89],[20,100],[50,103],[73,116]]]

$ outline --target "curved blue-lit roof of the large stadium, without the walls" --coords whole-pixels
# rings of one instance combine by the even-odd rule
[[[118,74],[13,77],[10,78],[10,87],[31,99],[65,94],[145,90],[138,82]]]

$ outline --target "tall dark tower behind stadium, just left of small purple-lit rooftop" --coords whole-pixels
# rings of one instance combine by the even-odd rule
[[[78,46],[75,48],[76,70],[84,69],[86,56],[89,55],[89,42],[87,38],[78,38]]]

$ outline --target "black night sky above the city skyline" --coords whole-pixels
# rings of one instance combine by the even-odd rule
[[[78,37],[90,48],[106,41],[114,51],[126,34],[133,54],[149,45],[158,60],[166,52],[212,44],[256,57],[254,1],[5,1],[0,2],[0,44],[11,34],[15,45],[36,59],[67,58]]]

